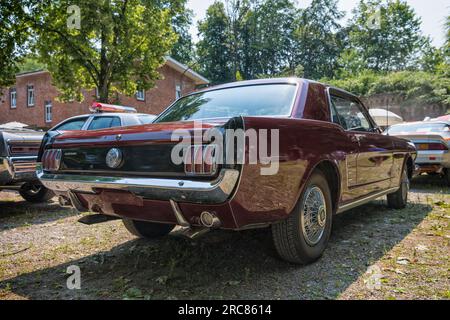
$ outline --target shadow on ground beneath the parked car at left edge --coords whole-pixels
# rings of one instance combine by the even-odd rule
[[[54,222],[74,215],[74,210],[62,208],[57,202],[33,204],[26,201],[0,201],[0,232],[23,225]]]

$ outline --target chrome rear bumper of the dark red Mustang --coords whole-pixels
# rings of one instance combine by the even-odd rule
[[[42,184],[57,193],[96,194],[99,189],[128,191],[149,200],[221,204],[232,195],[239,180],[239,171],[222,170],[214,181],[156,178],[99,177],[52,174],[37,166]]]

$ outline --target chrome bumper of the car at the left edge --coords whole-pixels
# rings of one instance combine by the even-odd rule
[[[37,180],[37,157],[1,157],[0,184]]]

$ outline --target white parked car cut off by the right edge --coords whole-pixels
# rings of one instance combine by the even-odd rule
[[[387,134],[408,139],[415,144],[419,174],[442,175],[450,185],[450,121],[399,124],[390,127]]]

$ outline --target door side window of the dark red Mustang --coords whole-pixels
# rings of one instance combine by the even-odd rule
[[[367,119],[364,108],[358,102],[331,96],[333,122],[345,130],[372,132],[373,127]]]

